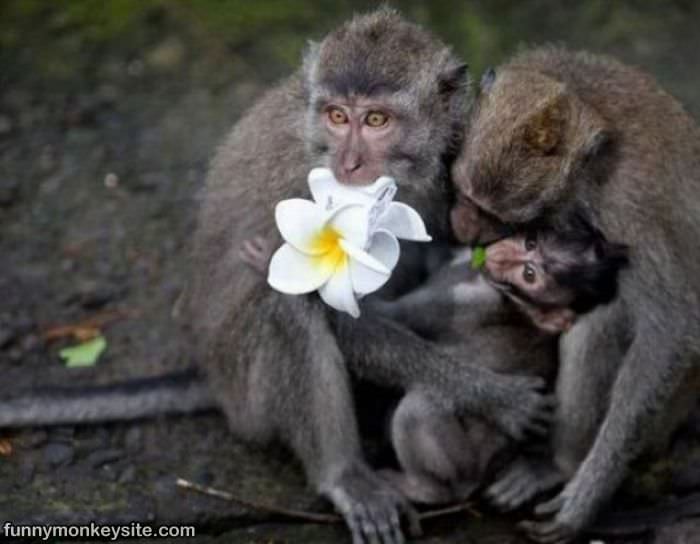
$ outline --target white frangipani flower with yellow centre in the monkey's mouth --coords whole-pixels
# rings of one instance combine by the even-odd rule
[[[272,256],[268,283],[292,295],[318,290],[326,304],[358,317],[357,297],[384,285],[398,262],[397,238],[430,237],[415,210],[391,201],[391,178],[353,188],[316,168],[309,187],[314,202],[283,200],[275,208],[285,243]]]

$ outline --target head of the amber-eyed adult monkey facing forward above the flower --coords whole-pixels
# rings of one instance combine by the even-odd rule
[[[317,164],[350,185],[390,175],[409,193],[438,177],[468,96],[466,65],[448,47],[385,8],[310,44],[304,60]]]

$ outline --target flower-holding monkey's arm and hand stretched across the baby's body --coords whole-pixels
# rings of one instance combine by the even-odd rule
[[[332,319],[348,369],[360,379],[404,391],[431,389],[445,410],[479,415],[515,439],[545,431],[551,399],[541,394],[540,378],[468,364],[386,319]]]

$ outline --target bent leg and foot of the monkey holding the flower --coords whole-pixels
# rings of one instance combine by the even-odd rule
[[[228,383],[213,386],[231,429],[248,440],[290,446],[310,483],[344,517],[355,544],[403,542],[400,517],[406,515],[413,530],[417,518],[363,458],[350,380],[324,308],[311,297],[271,291],[256,304],[268,319],[258,320],[254,332],[246,325],[247,307],[221,327],[227,332],[219,347],[230,348],[225,351],[234,361],[221,361],[217,382]],[[233,338],[237,345],[228,345]]]

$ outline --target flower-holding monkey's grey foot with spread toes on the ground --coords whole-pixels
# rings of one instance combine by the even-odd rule
[[[365,466],[344,470],[322,494],[345,519],[353,544],[403,544],[402,517],[411,536],[421,534],[418,514],[408,500]]]

